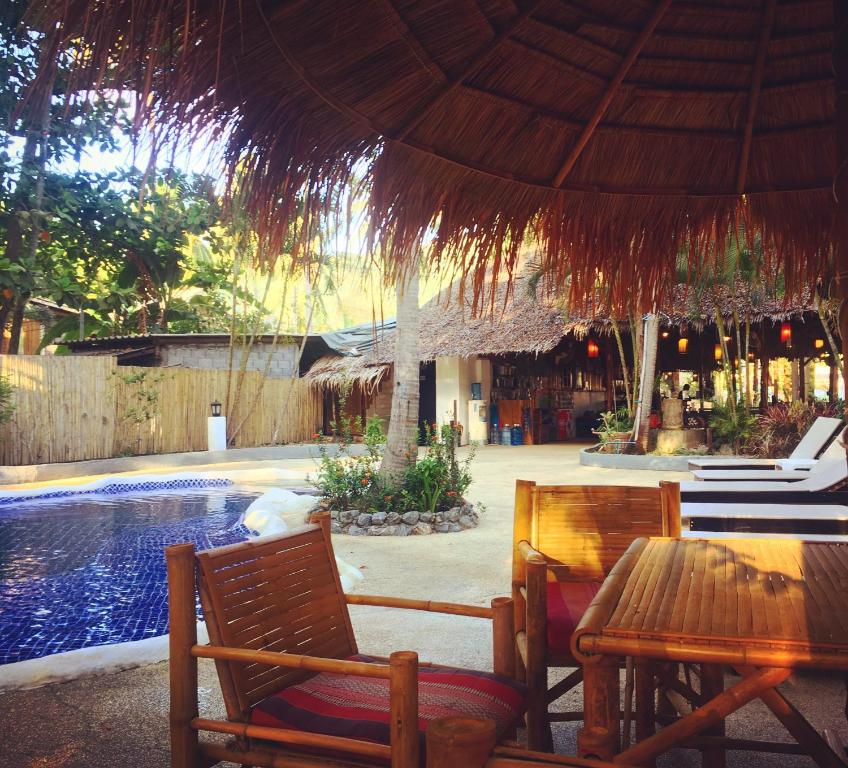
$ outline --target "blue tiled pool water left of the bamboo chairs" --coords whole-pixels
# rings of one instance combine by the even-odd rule
[[[0,664],[165,634],[163,548],[243,541],[258,496],[230,486],[0,506]]]

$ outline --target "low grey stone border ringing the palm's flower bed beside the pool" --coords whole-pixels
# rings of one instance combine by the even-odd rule
[[[480,513],[473,504],[462,504],[443,512],[360,512],[356,509],[330,510],[333,533],[348,536],[428,536],[431,533],[459,533],[476,528]]]

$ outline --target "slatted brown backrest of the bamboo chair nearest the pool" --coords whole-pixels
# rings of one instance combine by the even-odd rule
[[[344,658],[356,653],[329,532],[308,525],[197,555],[210,642],[234,648]],[[231,718],[309,673],[219,662]]]

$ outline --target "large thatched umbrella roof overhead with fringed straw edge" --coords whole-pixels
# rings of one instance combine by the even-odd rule
[[[269,249],[293,192],[332,204],[365,167],[393,263],[435,229],[432,260],[477,289],[531,231],[573,296],[600,272],[644,308],[678,251],[721,251],[740,218],[792,283],[830,258],[831,0],[37,5],[85,41],[73,86],[108,85],[117,62],[138,125],[226,138]]]

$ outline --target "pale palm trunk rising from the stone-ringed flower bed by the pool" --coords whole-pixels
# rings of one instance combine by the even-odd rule
[[[420,360],[418,335],[418,263],[412,264],[406,282],[397,284],[397,328],[395,331],[394,391],[386,451],[380,476],[397,480],[418,451],[418,387]]]

